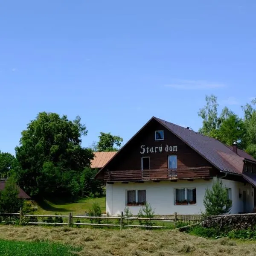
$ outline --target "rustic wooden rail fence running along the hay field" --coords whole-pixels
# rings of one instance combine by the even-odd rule
[[[143,228],[175,228],[178,225],[194,224],[201,221],[200,215],[177,215],[169,218],[126,218],[120,216],[81,216],[73,215],[34,215],[19,213],[1,213],[0,223],[20,225],[53,225],[53,226],[101,226],[101,227],[143,227]]]

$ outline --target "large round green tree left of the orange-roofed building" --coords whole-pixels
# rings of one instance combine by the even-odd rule
[[[80,176],[90,166],[93,153],[81,146],[87,134],[79,116],[74,121],[57,113],[39,113],[22,131],[16,157],[22,169],[17,180],[30,195],[77,195]]]

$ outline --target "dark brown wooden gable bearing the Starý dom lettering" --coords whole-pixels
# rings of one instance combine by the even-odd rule
[[[155,140],[155,131],[163,130],[164,140]],[[151,119],[102,169],[140,170],[142,157],[150,157],[150,169],[168,169],[168,156],[177,155],[177,168],[212,166],[204,157],[164,127]]]

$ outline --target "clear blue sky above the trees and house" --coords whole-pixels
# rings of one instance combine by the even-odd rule
[[[256,95],[254,0],[0,3],[0,150],[38,112],[126,142],[151,116],[197,130],[206,94],[242,114]]]

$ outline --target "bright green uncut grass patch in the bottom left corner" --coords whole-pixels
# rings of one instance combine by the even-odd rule
[[[72,256],[81,249],[58,243],[0,240],[1,256]]]

